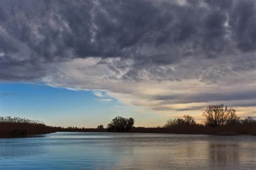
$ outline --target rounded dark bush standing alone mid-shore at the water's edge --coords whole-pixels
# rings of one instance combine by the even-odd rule
[[[111,132],[128,132],[131,130],[134,124],[133,118],[116,117],[112,119],[110,124],[107,125],[107,129]]]

